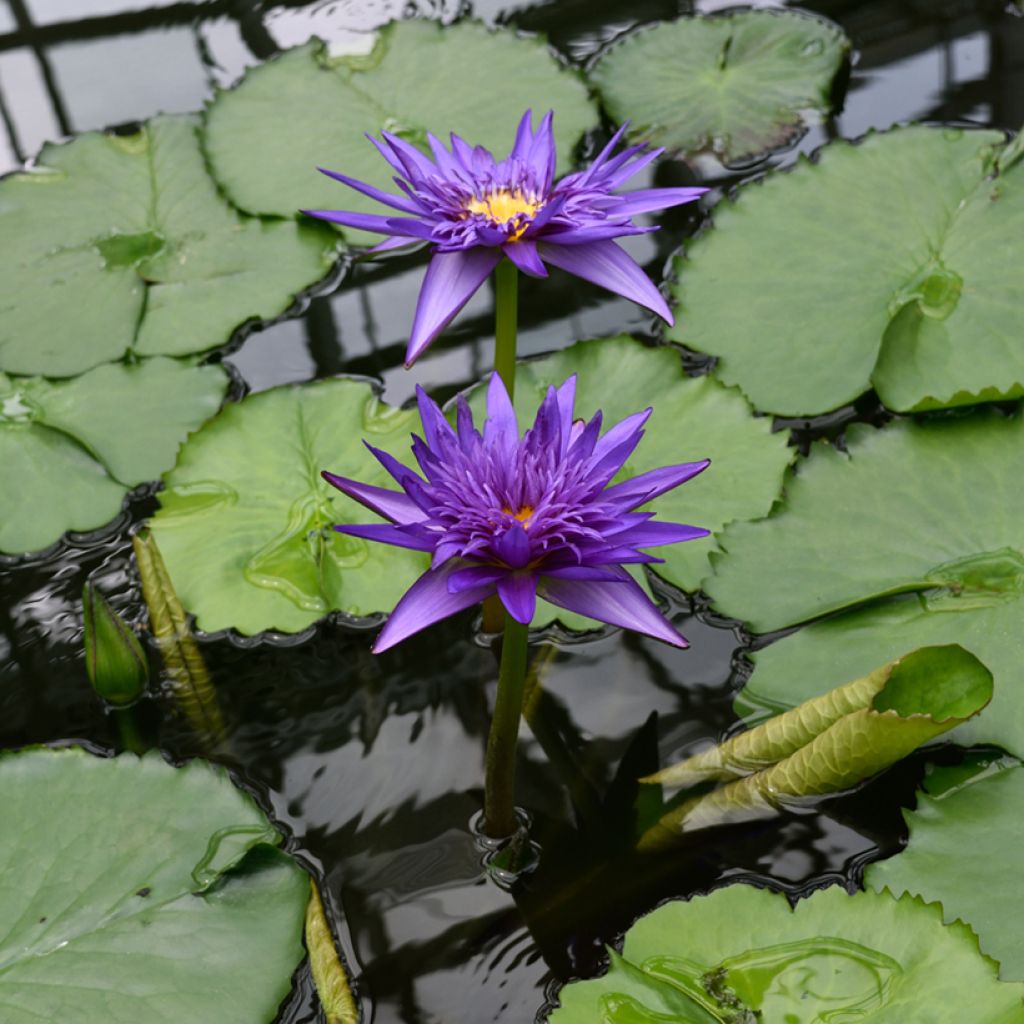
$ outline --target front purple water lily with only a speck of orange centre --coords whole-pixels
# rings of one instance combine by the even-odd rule
[[[532,620],[540,596],[569,611],[687,645],[623,566],[664,560],[641,548],[708,536],[698,526],[655,522],[653,513],[635,511],[695,476],[708,460],[654,469],[609,486],[643,436],[651,410],[601,434],[600,413],[588,423],[573,420],[574,376],[548,389],[521,439],[498,374],[490,378],[482,434],[462,396],[456,430],[422,388],[417,394],[425,439],[413,436],[413,454],[423,477],[370,444],[400,492],[323,474],[389,520],[335,529],[433,556],[395,606],[375,652],[496,593],[519,623]]]

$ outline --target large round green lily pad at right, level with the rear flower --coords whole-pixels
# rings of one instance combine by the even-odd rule
[[[761,410],[1024,394],[1020,141],[913,126],[834,142],[740,189],[677,261],[669,337]],[[784,267],[784,272],[780,272]]]

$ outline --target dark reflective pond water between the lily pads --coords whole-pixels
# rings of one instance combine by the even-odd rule
[[[215,86],[312,33],[362,46],[368,31],[390,17],[476,13],[543,32],[567,60],[585,63],[633,26],[691,9],[658,0],[143,3],[0,3],[0,171],[49,138],[198,109]],[[1001,3],[804,6],[842,24],[857,58],[842,112],[774,164],[787,165],[828,138],[906,120],[1007,129],[1024,123],[1024,18]],[[719,187],[740,179],[701,170]],[[692,180],[691,171],[670,163],[654,176],[659,183]],[[659,274],[699,216],[667,216],[657,236],[629,240],[633,254]],[[386,397],[400,402],[416,383],[447,395],[474,380],[490,358],[486,292],[413,372],[401,369],[422,265],[412,256],[356,266],[301,315],[238,340],[225,359],[240,393],[357,373],[381,377]],[[526,354],[621,331],[654,338],[635,306],[564,275],[525,282],[521,321]],[[688,365],[703,369],[699,359]],[[797,440],[805,442],[877,416],[868,399],[820,422],[786,426],[798,427]],[[101,534],[0,563],[0,745],[120,745],[117,723],[85,677],[80,595],[91,578],[126,615],[140,618],[128,539],[153,506],[136,495]],[[368,630],[336,622],[287,640],[206,638],[224,736],[205,742],[159,693],[139,709],[141,726],[173,757],[203,755],[229,766],[288,831],[291,849],[323,881],[367,1021],[526,1024],[543,1013],[558,980],[600,970],[602,944],[668,896],[735,878],[795,894],[853,886],[865,862],[901,841],[899,808],[912,801],[920,758],[821,813],[702,835],[642,865],[624,855],[630,780],[653,767],[658,752],[675,758],[735,724],[731,696],[752,644],[735,624],[708,614],[699,598],[667,596],[692,642],[688,652],[620,634],[552,647],[519,764],[520,802],[543,852],[540,867],[511,892],[487,878],[469,829],[481,802],[496,677],[494,654],[474,642],[472,616],[381,657],[369,653]],[[282,1020],[314,1021],[314,1007],[302,974]]]

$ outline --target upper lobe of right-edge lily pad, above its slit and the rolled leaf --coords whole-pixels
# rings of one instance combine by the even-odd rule
[[[910,591],[950,628],[957,613],[1016,604],[1024,419],[858,424],[847,449],[821,444],[772,515],[726,530],[728,558],[706,585],[716,607],[761,633]]]

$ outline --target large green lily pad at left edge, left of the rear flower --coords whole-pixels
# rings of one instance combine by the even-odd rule
[[[0,371],[71,377],[127,352],[206,351],[324,276],[332,232],[231,209],[196,128],[87,132],[0,181]]]

